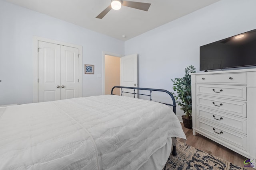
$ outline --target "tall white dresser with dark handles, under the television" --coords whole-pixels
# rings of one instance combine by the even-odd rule
[[[256,159],[256,69],[191,74],[193,135]]]

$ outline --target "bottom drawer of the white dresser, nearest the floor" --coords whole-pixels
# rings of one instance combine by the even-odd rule
[[[220,127],[202,119],[197,119],[197,128],[201,131],[205,131],[209,135],[217,137],[219,141],[226,141],[240,149],[247,150],[246,135],[230,131],[224,127]]]

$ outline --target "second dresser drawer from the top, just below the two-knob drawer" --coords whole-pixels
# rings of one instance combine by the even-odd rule
[[[197,84],[196,87],[199,95],[246,100],[246,86]]]

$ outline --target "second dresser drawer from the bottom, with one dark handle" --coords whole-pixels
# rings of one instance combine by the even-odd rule
[[[247,119],[242,117],[235,117],[202,107],[197,107],[197,117],[229,128],[233,131],[238,131],[244,134],[247,133]]]

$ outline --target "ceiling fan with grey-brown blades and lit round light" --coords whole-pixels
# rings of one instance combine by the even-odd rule
[[[110,6],[108,6],[105,10],[103,10],[96,18],[102,19],[108,12],[113,10],[119,10],[121,6],[128,6],[130,8],[136,8],[138,10],[148,11],[148,8],[151,4],[143,3],[143,2],[133,2],[127,0],[111,0]]]

